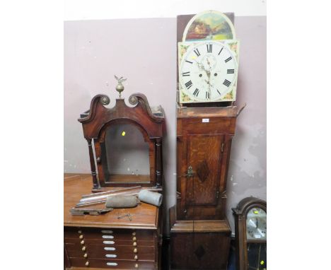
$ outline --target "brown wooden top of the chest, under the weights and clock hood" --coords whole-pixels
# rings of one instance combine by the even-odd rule
[[[157,229],[158,207],[144,203],[132,209],[114,209],[99,216],[72,216],[69,210],[79,202],[81,195],[91,192],[91,178],[91,175],[64,175],[64,226]],[[93,208],[104,207],[104,204],[93,206]],[[123,216],[128,212],[132,215],[132,221],[126,218],[117,218],[117,213],[119,216]]]

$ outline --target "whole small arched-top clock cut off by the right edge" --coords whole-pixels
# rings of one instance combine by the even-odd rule
[[[248,197],[232,211],[236,224],[237,269],[267,269],[267,202]]]

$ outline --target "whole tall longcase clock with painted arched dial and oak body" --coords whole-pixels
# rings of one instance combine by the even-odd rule
[[[177,201],[170,209],[172,269],[226,269],[230,250],[226,182],[236,119],[242,110],[233,104],[238,41],[214,40],[222,28],[220,22],[225,21],[223,13],[204,12],[202,17],[178,16],[178,37],[183,21],[192,18],[186,40],[204,38],[178,40]]]

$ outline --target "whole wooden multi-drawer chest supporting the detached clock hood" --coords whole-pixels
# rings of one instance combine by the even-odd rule
[[[108,188],[117,189],[117,188]],[[64,175],[64,264],[66,269],[160,269],[159,209],[141,203],[100,216],[71,216],[69,209],[91,192],[91,175]],[[103,208],[105,204],[89,206]],[[126,213],[128,218],[117,218]]]

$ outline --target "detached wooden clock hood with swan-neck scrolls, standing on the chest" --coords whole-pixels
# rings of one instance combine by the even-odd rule
[[[129,96],[129,103],[134,107],[127,106],[122,98],[116,100],[115,107],[105,107],[109,103],[110,99],[107,95],[95,95],[91,100],[90,110],[81,114],[78,119],[83,125],[83,134],[88,141],[93,191],[101,191],[103,187],[137,185],[137,182],[112,182],[110,175],[105,171],[107,164],[105,134],[107,129],[115,124],[133,124],[144,136],[144,141],[149,144],[149,183],[139,182],[138,184],[146,187],[161,187],[162,137],[165,129],[162,107],[158,107],[158,112],[152,112],[146,96],[141,93]],[[98,175],[96,169],[98,169]]]

